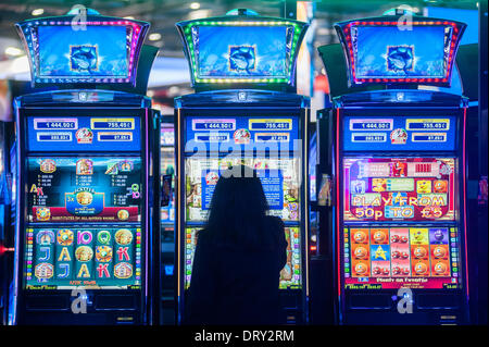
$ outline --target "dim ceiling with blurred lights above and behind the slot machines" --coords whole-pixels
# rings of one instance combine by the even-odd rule
[[[484,1],[484,0],[482,0]],[[191,9],[191,7],[199,9]],[[331,24],[347,18],[380,15],[384,11],[408,4],[422,13],[425,7],[477,9],[475,0],[316,0],[314,17],[317,20],[316,41],[319,45],[336,41]],[[293,3],[293,1],[288,1]],[[63,15],[74,4],[95,9],[103,15],[133,16],[151,23],[150,33],[159,33],[161,39],[149,42],[160,46],[160,54],[184,57],[175,23],[196,17],[224,15],[237,8],[248,8],[261,15],[280,16],[286,1],[234,1],[234,0],[1,0],[0,36],[17,39],[14,23],[32,18],[33,10],[43,9],[42,16]],[[18,47],[21,47],[18,45]]]

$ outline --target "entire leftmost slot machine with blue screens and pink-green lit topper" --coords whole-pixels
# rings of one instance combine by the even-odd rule
[[[160,129],[136,88],[149,23],[88,10],[16,28],[33,86],[52,90],[14,103],[10,324],[154,323]]]

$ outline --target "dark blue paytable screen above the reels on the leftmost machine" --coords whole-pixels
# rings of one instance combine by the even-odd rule
[[[140,222],[140,158],[29,158],[29,222]]]

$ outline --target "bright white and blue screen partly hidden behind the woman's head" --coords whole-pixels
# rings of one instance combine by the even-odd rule
[[[206,220],[212,195],[220,178],[221,170],[233,165],[255,169],[262,182],[268,202],[268,214],[284,221],[300,221],[300,161],[264,158],[199,158],[186,159],[186,220]]]

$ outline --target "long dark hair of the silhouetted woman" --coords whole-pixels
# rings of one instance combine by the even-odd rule
[[[256,171],[243,165],[229,168],[217,181],[203,233],[217,244],[269,248],[271,233],[264,227],[267,210]]]

